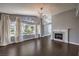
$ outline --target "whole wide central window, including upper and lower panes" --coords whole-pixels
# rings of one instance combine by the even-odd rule
[[[20,20],[20,38],[21,40],[33,39],[36,37],[36,23],[31,17]]]

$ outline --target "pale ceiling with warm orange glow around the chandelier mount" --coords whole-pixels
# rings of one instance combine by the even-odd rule
[[[0,3],[0,12],[10,14],[38,15],[40,8],[52,15],[76,8],[75,3]]]

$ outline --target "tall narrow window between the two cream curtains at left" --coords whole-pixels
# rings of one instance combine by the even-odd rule
[[[16,21],[10,20],[9,38],[10,38],[10,43],[15,42],[15,39],[16,39]]]

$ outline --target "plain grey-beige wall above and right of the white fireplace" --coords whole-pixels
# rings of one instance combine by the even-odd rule
[[[79,18],[75,10],[69,10],[53,16],[53,29],[70,28],[70,42],[79,43]]]

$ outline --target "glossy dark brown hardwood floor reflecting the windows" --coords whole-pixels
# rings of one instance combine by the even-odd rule
[[[0,47],[0,56],[78,56],[76,45],[45,38]]]

